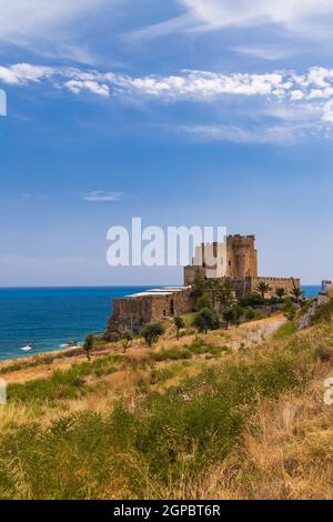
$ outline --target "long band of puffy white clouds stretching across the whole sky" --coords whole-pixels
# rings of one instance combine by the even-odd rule
[[[213,123],[194,122],[183,130],[188,135],[210,140],[287,142],[291,137],[300,139],[312,133],[327,138],[333,124],[333,69],[324,67],[313,67],[303,73],[272,70],[225,74],[183,70],[172,76],[131,77],[112,71],[18,63],[0,68],[0,84],[1,81],[19,88],[38,84],[47,89],[49,86],[73,96],[87,92],[105,101],[113,98],[141,103],[204,103],[214,109]],[[226,112],[232,117],[228,119]],[[220,121],[216,121],[219,113]],[[258,126],[259,114],[262,122]],[[95,191],[83,199],[117,201],[121,195]]]

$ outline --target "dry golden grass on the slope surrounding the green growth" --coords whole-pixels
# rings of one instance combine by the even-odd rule
[[[205,343],[218,347],[228,345],[242,355],[225,354],[219,359],[205,359],[205,355],[194,355],[189,361],[151,361],[151,351],[139,340],[125,353],[125,364],[119,371],[101,378],[87,378],[93,387],[92,391],[80,399],[67,399],[52,404],[27,405],[13,402],[0,410],[0,431],[6,432],[11,425],[39,422],[43,429],[49,428],[63,415],[77,412],[93,411],[108,415],[114,403],[122,400],[132,411],[140,404],[140,387],[145,385],[151,391],[163,392],[170,387],[179,387],[186,378],[198,375],[203,369],[219,367],[224,360],[232,358],[249,358],[258,352],[272,351],[283,347],[287,340],[269,340],[281,324],[283,317],[273,317],[262,321],[233,328],[229,332],[210,332],[204,337]],[[304,343],[316,347],[333,347],[332,327],[312,328],[296,334]],[[172,327],[153,348],[154,352],[164,349],[184,348],[194,340],[189,335],[176,340]],[[105,354],[122,354],[121,343],[112,344]],[[102,357],[102,355],[101,355]],[[83,362],[83,357],[69,360],[61,359],[51,365],[23,369],[6,374],[8,382],[27,382],[40,377],[49,377],[57,369],[65,370],[72,363]],[[147,363],[147,364],[145,364]],[[170,371],[170,378],[153,382],[155,371]],[[173,371],[175,370],[175,371]],[[168,374],[168,373],[167,373]],[[333,360],[313,361],[309,367],[307,387],[304,393],[284,394],[279,400],[262,400],[251,415],[243,431],[239,445],[225,458],[216,462],[201,475],[189,473],[183,475],[172,486],[149,479],[144,466],[138,466],[138,476],[147,480],[145,498],[154,499],[279,499],[310,500],[333,498],[333,406],[324,404],[324,380],[333,375]],[[195,452],[195,448],[193,449]],[[129,456],[130,458],[130,456]],[[8,466],[8,461],[0,466]],[[132,463],[137,465],[135,461]],[[185,468],[185,466],[184,466]],[[31,498],[31,491],[24,481],[20,461],[10,463],[8,471],[19,484],[21,498]],[[84,478],[82,478],[83,480]],[[93,484],[91,484],[93,486]],[[128,485],[121,476],[114,478],[103,492],[103,499],[119,499],[128,494]],[[89,491],[85,493],[89,498]]]

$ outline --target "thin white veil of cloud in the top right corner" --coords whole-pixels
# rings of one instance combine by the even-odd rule
[[[332,39],[332,0],[178,0],[178,3],[184,9],[183,14],[141,29],[137,37],[271,26],[306,39]]]

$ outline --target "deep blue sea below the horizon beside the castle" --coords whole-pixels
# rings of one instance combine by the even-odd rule
[[[82,342],[105,330],[112,300],[152,287],[0,289],[0,361]],[[321,287],[303,287],[314,297]],[[31,351],[22,348],[30,345]]]

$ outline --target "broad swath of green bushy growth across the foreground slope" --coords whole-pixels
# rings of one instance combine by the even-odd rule
[[[149,392],[135,412],[119,403],[108,415],[81,412],[59,418],[48,429],[17,426],[0,441],[0,496],[142,499],[152,493],[148,484],[158,494],[199,476],[241,443],[259,401],[303,390],[307,373],[302,361],[309,362],[310,354],[299,347],[229,361],[164,393]],[[58,372],[50,387],[56,381],[68,384]],[[82,388],[81,381],[77,387]],[[20,400],[30,401],[33,384],[20,390]],[[52,389],[44,389],[44,395],[50,393]]]

